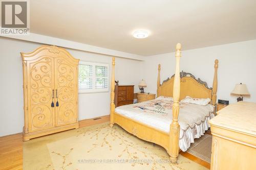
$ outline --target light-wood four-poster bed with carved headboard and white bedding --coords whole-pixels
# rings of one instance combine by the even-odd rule
[[[192,74],[183,71],[180,72],[180,43],[176,45],[175,57],[175,74],[160,84],[161,66],[159,64],[157,79],[157,96],[173,97],[173,101],[157,101],[156,99],[136,105],[126,105],[116,109],[114,104],[115,58],[113,57],[110,105],[111,127],[114,124],[118,124],[127,132],[143,140],[161,145],[170,155],[170,161],[174,163],[177,162],[179,149],[185,151],[189,147],[190,142],[193,142],[194,138],[200,137],[204,130],[208,128],[208,120],[215,112],[218,84],[218,60],[215,60],[214,81],[212,88],[209,88],[206,82],[196,79]],[[204,108],[197,107],[195,104],[180,103],[180,100],[186,98],[186,96],[191,96],[192,98],[209,98],[210,103]],[[162,105],[166,106],[163,107]],[[148,112],[157,110],[154,107],[163,107],[165,113],[161,115],[161,113]],[[191,107],[194,107],[194,109],[191,109]],[[201,114],[196,114],[199,112]],[[188,113],[194,116],[188,116]],[[164,114],[167,116],[164,116]]]

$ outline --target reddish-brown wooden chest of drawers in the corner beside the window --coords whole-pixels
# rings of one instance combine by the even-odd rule
[[[115,106],[133,104],[134,85],[115,86]]]

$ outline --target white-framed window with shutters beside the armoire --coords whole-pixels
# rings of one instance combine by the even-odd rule
[[[109,64],[80,61],[78,90],[79,93],[109,91]]]

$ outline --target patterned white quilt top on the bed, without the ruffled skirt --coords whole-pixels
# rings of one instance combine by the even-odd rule
[[[115,112],[138,120],[147,125],[156,126],[158,129],[169,132],[169,125],[172,123],[173,101],[151,100],[132,105],[119,106]],[[181,103],[178,121],[181,130],[185,131],[189,127],[194,128],[205,121],[206,117],[214,111],[214,106],[206,106]]]

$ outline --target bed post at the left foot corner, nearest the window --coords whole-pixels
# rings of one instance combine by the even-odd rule
[[[112,77],[111,77],[111,104],[110,104],[110,127],[114,126],[114,112],[115,112],[115,57],[112,58]]]

